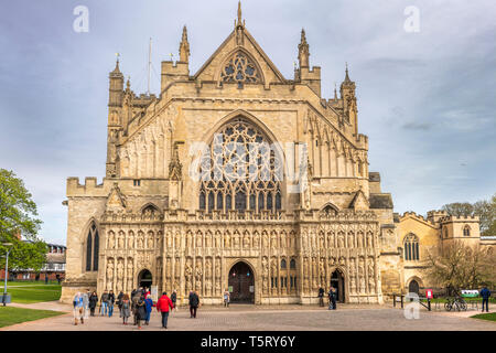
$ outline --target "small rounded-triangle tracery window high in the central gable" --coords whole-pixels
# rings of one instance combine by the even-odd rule
[[[242,85],[260,83],[260,73],[255,63],[242,52],[237,52],[224,64],[220,73],[222,82],[237,83],[239,88]]]

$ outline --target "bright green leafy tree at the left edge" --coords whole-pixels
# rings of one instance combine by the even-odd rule
[[[36,218],[36,204],[24,182],[12,171],[0,169],[0,266],[6,263],[7,247],[12,243],[9,268],[40,270],[46,261],[46,244],[37,239],[41,221]],[[15,235],[21,233],[26,242]]]

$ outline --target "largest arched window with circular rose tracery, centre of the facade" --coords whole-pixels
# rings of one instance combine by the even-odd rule
[[[200,208],[281,210],[282,162],[270,143],[242,117],[224,125],[201,157]]]

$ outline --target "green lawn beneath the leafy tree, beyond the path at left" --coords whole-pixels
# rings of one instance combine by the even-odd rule
[[[7,292],[11,295],[12,302],[33,303],[61,299],[62,287],[45,285],[44,282],[7,282]],[[0,292],[3,292],[1,287]]]

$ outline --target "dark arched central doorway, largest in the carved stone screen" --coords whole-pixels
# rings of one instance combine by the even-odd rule
[[[235,264],[229,271],[230,302],[255,303],[255,278],[246,263]]]

